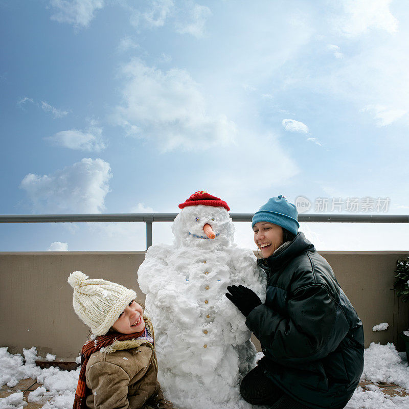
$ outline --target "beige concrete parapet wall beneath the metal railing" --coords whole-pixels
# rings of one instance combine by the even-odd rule
[[[393,342],[404,350],[398,333],[409,328],[409,305],[393,287],[396,260],[407,252],[320,252],[331,264],[339,284],[363,322],[366,346]],[[36,346],[58,358],[79,355],[89,333],[72,307],[71,272],[103,278],[133,288],[140,300],[137,270],[145,252],[0,252],[0,346],[9,352]],[[385,331],[373,332],[388,322]]]

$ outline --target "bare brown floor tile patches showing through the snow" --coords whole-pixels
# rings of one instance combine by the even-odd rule
[[[373,385],[372,382],[368,381],[363,381],[359,383],[359,386],[361,386],[363,389],[370,390],[371,386]],[[38,387],[40,387],[41,384],[37,383],[34,379],[24,379],[18,382],[15,387],[13,388],[8,388],[7,385],[4,385],[3,387],[0,388],[0,398],[6,398],[7,396],[11,395],[12,393],[15,393],[17,391],[21,391],[24,395],[25,401],[28,402],[28,395],[31,391],[36,390]],[[379,383],[378,387],[380,390],[387,395],[390,396],[407,396],[409,395],[406,393],[406,391],[403,388],[398,387],[398,385],[395,385],[394,383]],[[24,409],[39,409],[40,407],[43,406],[43,404],[46,403],[45,400],[39,401],[39,402],[28,402],[28,405],[24,407]]]

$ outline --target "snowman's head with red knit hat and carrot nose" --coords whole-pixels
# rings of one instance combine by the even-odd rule
[[[193,193],[179,207],[182,211],[172,224],[176,247],[214,249],[234,242],[234,224],[227,203],[205,191]],[[214,238],[212,238],[214,237]]]

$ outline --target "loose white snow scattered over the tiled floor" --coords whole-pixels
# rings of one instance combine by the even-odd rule
[[[7,348],[0,348],[0,386],[14,387],[21,379],[33,378],[43,387],[30,392],[29,402],[46,401],[43,409],[71,409],[79,376],[75,371],[62,371],[51,367],[40,369],[35,366],[37,350],[35,347],[23,351],[24,358],[12,355]],[[389,396],[376,385],[378,382],[395,383],[409,393],[409,367],[404,354],[398,353],[393,344],[372,343],[365,350],[365,362],[361,380],[368,380],[366,389],[358,387],[348,402],[346,409],[407,409],[409,396]],[[262,357],[257,354],[257,359]],[[77,358],[78,362],[78,358]],[[16,391],[0,399],[0,409],[19,409],[27,405],[23,394]]]

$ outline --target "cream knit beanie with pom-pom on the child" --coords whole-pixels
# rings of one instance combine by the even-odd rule
[[[74,288],[74,311],[93,334],[104,335],[137,293],[120,284],[87,278],[81,271],[72,272],[68,278]]]

